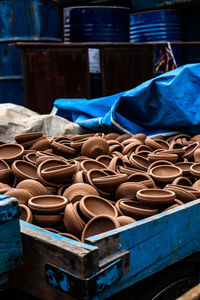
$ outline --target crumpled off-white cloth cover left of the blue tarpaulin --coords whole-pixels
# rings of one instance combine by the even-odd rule
[[[85,132],[78,124],[59,116],[40,115],[11,103],[0,104],[0,140],[12,142],[15,135],[36,131],[42,131],[49,137]]]

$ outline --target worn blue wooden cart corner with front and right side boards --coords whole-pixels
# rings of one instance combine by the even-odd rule
[[[21,221],[24,263],[13,280],[41,299],[108,298],[197,253],[199,216],[195,200],[84,244]]]

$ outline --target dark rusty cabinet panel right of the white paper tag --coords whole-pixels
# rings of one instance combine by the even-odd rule
[[[153,77],[153,47],[101,49],[102,96],[134,88]]]

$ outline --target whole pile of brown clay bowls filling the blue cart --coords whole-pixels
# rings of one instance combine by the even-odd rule
[[[18,135],[0,143],[0,193],[22,220],[84,241],[198,199],[200,135]]]

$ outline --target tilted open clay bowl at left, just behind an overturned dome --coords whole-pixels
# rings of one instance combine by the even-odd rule
[[[12,164],[12,171],[19,181],[24,179],[38,180],[37,168],[28,161],[14,161]]]

